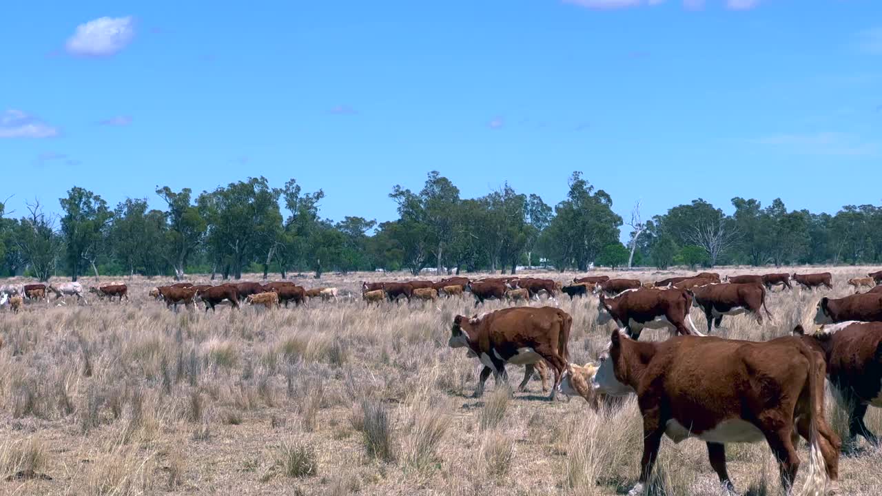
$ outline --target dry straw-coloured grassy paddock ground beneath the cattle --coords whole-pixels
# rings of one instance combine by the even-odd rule
[[[796,322],[810,324],[821,294],[852,292],[846,280],[869,269],[830,269],[833,291],[775,290],[767,300],[773,322],[727,317],[721,334],[788,334]],[[364,278],[378,276],[328,275],[320,284],[356,290]],[[493,380],[483,398],[471,397],[478,363],[446,346],[453,316],[474,313],[471,297],[175,314],[147,297],[159,282],[167,281],[129,282],[128,304],[90,295],[88,305],[0,313],[0,493],[608,495],[626,492],[638,475],[633,401],[605,418],[580,398],[545,401],[537,380],[512,399]],[[610,330],[594,322],[596,298],[559,305],[573,316],[573,358],[593,359]],[[692,318],[706,325],[697,309]],[[666,337],[647,330],[643,339]],[[522,368],[509,370],[516,385]],[[845,431],[829,398],[827,415]],[[882,432],[879,410],[868,425]],[[841,458],[841,493],[878,494],[882,451],[862,440],[853,452]],[[800,454],[806,461],[804,443]],[[765,444],[729,445],[728,456],[740,492],[780,492]],[[721,493],[700,441],[665,440],[656,467],[654,494]]]

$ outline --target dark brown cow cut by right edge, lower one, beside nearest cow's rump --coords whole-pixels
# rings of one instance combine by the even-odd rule
[[[842,322],[823,326],[813,335],[796,326],[793,334],[824,356],[833,398],[848,412],[850,441],[860,435],[878,446],[863,416],[868,406],[882,408],[882,323]]]

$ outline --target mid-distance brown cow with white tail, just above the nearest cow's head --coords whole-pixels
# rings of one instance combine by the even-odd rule
[[[668,328],[672,335],[703,335],[692,323],[691,305],[691,295],[682,289],[629,289],[614,298],[601,294],[597,324],[614,320],[633,339],[640,338],[644,327]]]

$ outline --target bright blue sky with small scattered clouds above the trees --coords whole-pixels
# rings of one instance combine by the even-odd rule
[[[395,217],[437,169],[627,216],[882,201],[875,0],[155,1],[0,7],[0,200],[111,206],[263,175]]]

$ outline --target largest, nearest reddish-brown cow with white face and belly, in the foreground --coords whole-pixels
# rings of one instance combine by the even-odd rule
[[[613,331],[594,387],[609,395],[637,393],[643,417],[640,477],[630,495],[643,494],[662,436],[675,443],[707,443],[711,467],[735,492],[726,470],[730,442],[766,440],[789,490],[799,469],[796,433],[809,442],[804,493],[823,494],[839,477],[841,440],[824,417],[824,360],[791,336],[769,342],[677,336],[637,342]],[[716,378],[716,380],[708,380]],[[826,477],[824,469],[826,468]]]

